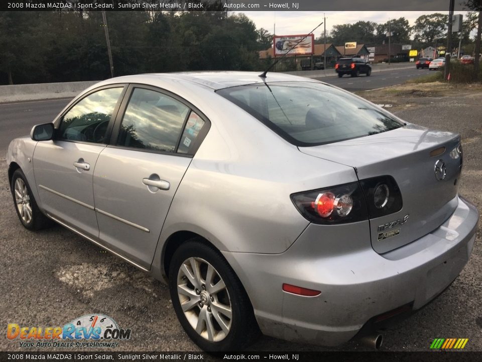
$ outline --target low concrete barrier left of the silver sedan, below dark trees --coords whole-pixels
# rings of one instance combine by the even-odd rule
[[[0,85],[0,103],[73,98],[98,80]]]

